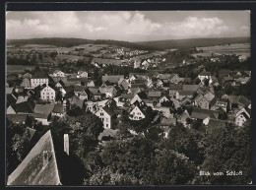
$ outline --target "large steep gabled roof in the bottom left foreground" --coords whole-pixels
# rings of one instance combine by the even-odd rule
[[[43,152],[48,154],[43,166]],[[8,176],[7,185],[60,185],[50,130],[34,145],[29,155]]]

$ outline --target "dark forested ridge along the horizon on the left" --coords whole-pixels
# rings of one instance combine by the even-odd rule
[[[108,39],[83,39],[83,38],[65,38],[65,37],[47,37],[47,38],[30,38],[30,39],[7,39],[8,45],[26,45],[26,44],[47,44],[58,47],[72,47],[81,44],[108,44],[120,47],[142,50],[160,50],[161,48],[133,43],[129,41],[108,40]]]

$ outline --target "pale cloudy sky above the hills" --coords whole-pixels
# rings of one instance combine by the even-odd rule
[[[148,41],[250,36],[249,11],[10,11],[6,38]]]

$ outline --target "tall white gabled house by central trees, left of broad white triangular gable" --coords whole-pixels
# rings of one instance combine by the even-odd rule
[[[99,107],[96,111],[96,116],[102,121],[104,129],[111,129],[114,119],[114,111],[109,106]]]

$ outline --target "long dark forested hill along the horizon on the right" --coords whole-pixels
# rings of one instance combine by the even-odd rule
[[[250,43],[250,37],[220,37],[220,38],[190,38],[190,39],[167,39],[158,41],[139,41],[137,44],[163,49],[180,49],[192,47],[206,47],[230,43]]]

